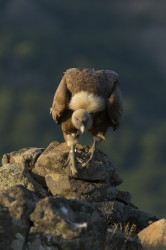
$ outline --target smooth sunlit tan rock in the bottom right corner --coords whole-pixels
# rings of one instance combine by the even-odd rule
[[[138,237],[145,250],[166,249],[166,219],[158,220],[139,232]]]

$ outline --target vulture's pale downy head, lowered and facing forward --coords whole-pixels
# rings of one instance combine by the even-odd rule
[[[79,129],[81,133],[90,129],[92,126],[92,116],[85,109],[78,109],[73,112],[71,121],[75,128]]]

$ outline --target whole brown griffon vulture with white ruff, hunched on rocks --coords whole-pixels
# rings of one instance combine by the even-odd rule
[[[67,163],[71,163],[72,172],[77,172],[74,153],[78,131],[92,133],[90,161],[97,144],[105,139],[108,127],[115,130],[121,122],[123,108],[118,75],[111,70],[68,69],[55,92],[51,113],[54,121],[61,124],[70,147]]]

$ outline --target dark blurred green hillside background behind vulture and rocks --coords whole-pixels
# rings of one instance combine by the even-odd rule
[[[119,73],[125,115],[101,145],[139,208],[165,216],[166,2],[0,0],[0,154],[63,141],[49,115],[70,67]]]

